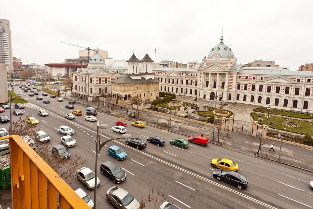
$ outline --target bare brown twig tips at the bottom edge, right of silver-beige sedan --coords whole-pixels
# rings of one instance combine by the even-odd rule
[[[164,191],[163,192],[157,191],[155,193],[154,190],[152,189],[151,192],[149,190],[149,193],[145,198],[142,196],[140,208],[157,209],[164,201],[165,201]]]

